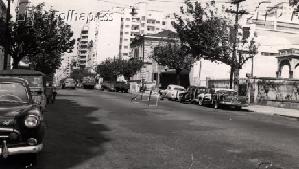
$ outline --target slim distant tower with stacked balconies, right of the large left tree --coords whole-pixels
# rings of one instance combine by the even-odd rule
[[[84,25],[77,41],[77,67],[86,68],[89,26]]]

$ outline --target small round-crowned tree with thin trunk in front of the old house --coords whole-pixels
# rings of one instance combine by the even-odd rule
[[[177,84],[180,85],[180,73],[184,69],[191,69],[195,58],[189,54],[189,47],[176,41],[161,42],[154,47],[150,56],[159,65],[167,66],[169,69],[176,70]]]

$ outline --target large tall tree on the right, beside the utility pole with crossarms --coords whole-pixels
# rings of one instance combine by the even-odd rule
[[[190,0],[185,4],[186,10],[181,8],[180,15],[176,14],[176,22],[173,23],[178,37],[189,45],[193,57],[230,65],[231,74],[237,82],[239,69],[257,54],[256,33],[250,41],[243,39],[242,33],[238,32],[241,27],[232,23],[232,15],[225,13],[224,6],[216,8],[215,1],[206,3],[206,8],[198,2],[193,5]],[[235,34],[237,38],[234,38]],[[237,49],[247,51],[239,53],[236,59],[232,58],[234,41]],[[231,84],[232,78],[230,76]]]

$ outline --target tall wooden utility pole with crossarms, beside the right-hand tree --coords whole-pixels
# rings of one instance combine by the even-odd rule
[[[232,82],[234,82],[235,84],[239,84],[238,80],[239,80],[239,73],[236,74],[237,72],[235,72],[236,69],[239,69],[239,65],[236,65],[235,63],[237,63],[237,32],[238,32],[238,27],[239,27],[239,14],[243,15],[243,14],[249,14],[249,12],[246,12],[245,10],[239,10],[239,3],[246,1],[246,0],[232,0],[231,4],[232,5],[237,5],[237,10],[226,10],[226,12],[231,13],[231,14],[235,14],[235,25],[234,25],[234,34],[232,37],[232,65],[230,65],[230,89],[232,89]],[[235,78],[234,78],[235,75]],[[232,80],[234,79],[234,80]]]

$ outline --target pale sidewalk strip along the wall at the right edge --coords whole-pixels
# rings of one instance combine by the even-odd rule
[[[272,106],[261,106],[261,105],[250,105],[244,107],[248,111],[253,111],[256,113],[263,113],[265,115],[280,115],[284,117],[297,118],[299,120],[299,110],[296,109],[285,109]]]

